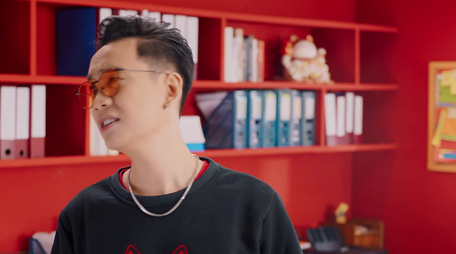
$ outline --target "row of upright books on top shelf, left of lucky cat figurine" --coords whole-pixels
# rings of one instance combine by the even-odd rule
[[[253,35],[244,36],[244,29],[225,27],[224,81],[264,81],[264,41]]]

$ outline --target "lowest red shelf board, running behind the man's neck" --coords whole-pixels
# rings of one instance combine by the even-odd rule
[[[394,143],[381,144],[353,144],[335,147],[311,146],[311,147],[271,147],[255,149],[213,149],[204,152],[196,152],[198,156],[217,158],[229,157],[249,157],[249,156],[271,156],[271,155],[292,155],[292,154],[309,154],[309,153],[336,153],[336,152],[368,152],[368,151],[388,151],[395,150],[397,145]],[[119,156],[62,156],[62,157],[44,157],[1,160],[0,168],[36,168],[63,165],[80,165],[96,163],[130,163],[130,158],[126,155]]]

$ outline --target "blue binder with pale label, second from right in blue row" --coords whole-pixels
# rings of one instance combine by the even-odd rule
[[[290,146],[301,145],[302,95],[291,90]]]

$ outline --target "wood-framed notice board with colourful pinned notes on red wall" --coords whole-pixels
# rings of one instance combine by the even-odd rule
[[[428,170],[456,173],[456,61],[429,63]]]

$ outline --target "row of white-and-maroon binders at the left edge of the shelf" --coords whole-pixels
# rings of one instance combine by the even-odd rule
[[[0,86],[0,159],[44,157],[46,86]]]

